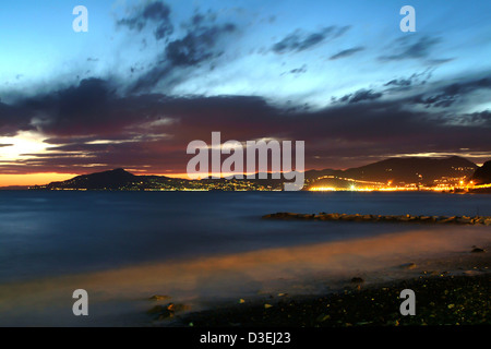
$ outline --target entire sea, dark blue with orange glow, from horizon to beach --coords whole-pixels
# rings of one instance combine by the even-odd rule
[[[279,280],[289,281],[290,291],[296,285],[309,292],[292,280],[339,274],[345,265],[362,274],[370,261],[380,262],[375,269],[396,256],[457,253],[490,242],[489,227],[262,219],[277,212],[491,216],[491,196],[0,191],[0,325],[77,325],[68,293],[75,288],[92,289],[100,304],[125,300],[121,311],[128,314],[146,306],[146,296],[163,292],[204,306],[212,299],[278,291]],[[65,309],[56,304],[59,297]],[[144,315],[121,322],[115,306],[108,309],[83,324],[146,322]]]

